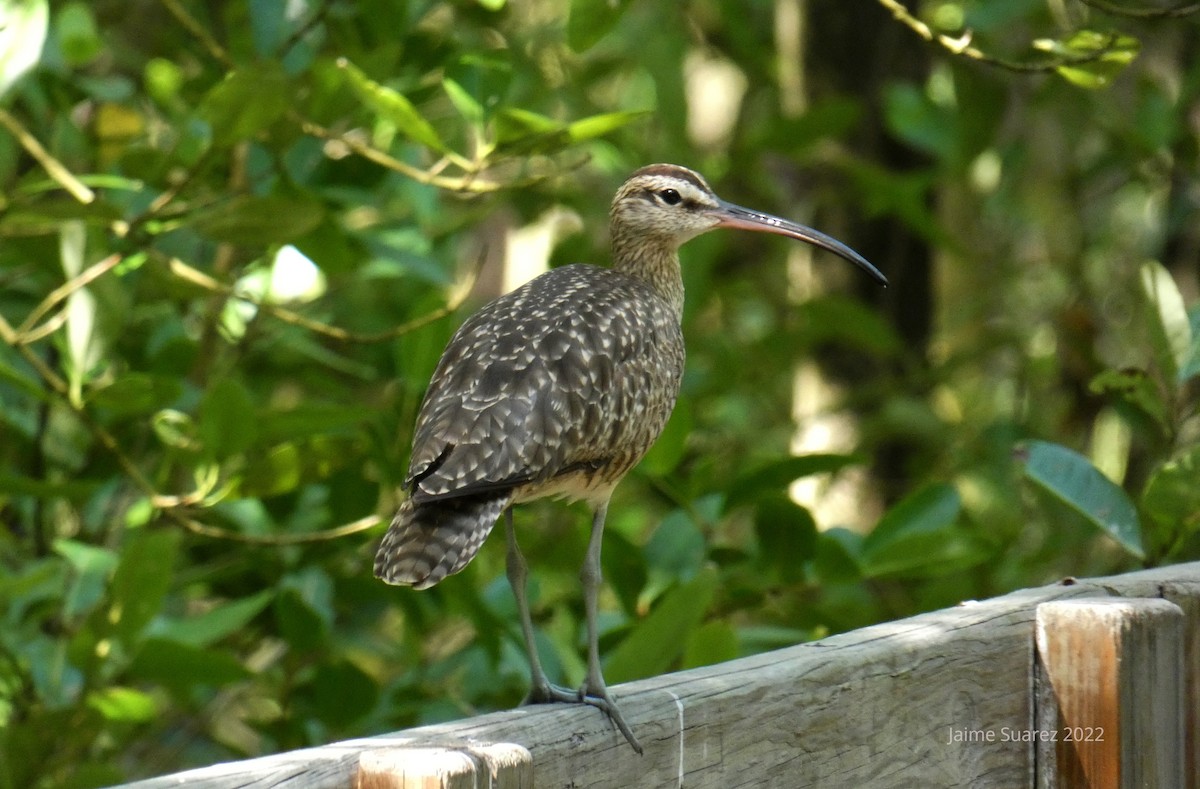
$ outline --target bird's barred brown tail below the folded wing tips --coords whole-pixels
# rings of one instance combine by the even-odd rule
[[[376,554],[376,578],[428,589],[467,566],[510,495],[461,496],[400,506]]]

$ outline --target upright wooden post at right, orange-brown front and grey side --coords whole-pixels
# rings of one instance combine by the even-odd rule
[[[1183,785],[1182,636],[1165,600],[1038,606],[1038,785]]]

